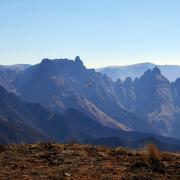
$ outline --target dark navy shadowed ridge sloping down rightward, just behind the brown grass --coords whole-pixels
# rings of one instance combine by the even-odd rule
[[[75,140],[139,148],[152,138],[163,150],[180,150],[178,140],[109,128],[73,109],[63,114],[52,113],[40,104],[22,102],[0,86],[0,144]]]

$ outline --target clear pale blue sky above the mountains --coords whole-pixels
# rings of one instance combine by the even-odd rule
[[[180,64],[180,0],[0,0],[0,64]]]

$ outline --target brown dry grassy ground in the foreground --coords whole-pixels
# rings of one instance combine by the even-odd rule
[[[180,179],[180,154],[39,143],[0,146],[1,179]]]

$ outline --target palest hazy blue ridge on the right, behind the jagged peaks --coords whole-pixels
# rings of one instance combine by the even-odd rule
[[[148,69],[158,67],[161,72],[169,81],[175,81],[180,76],[180,66],[178,65],[156,65],[152,63],[140,63],[127,66],[109,66],[105,68],[97,69],[97,72],[107,74],[113,80],[122,79],[125,80],[127,77],[135,79],[141,77]]]

